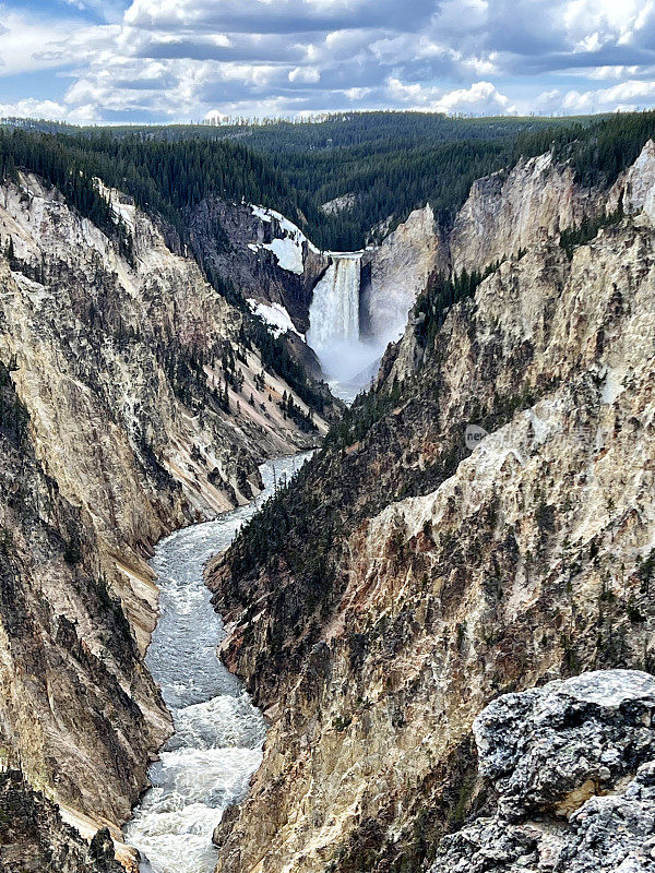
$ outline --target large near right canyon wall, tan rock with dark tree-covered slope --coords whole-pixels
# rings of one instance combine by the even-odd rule
[[[507,260],[440,330],[409,325],[378,391],[214,567],[224,657],[272,720],[218,871],[420,870],[490,802],[472,723],[499,691],[653,670],[646,202],[571,260],[536,207],[526,253],[472,243],[466,263]]]

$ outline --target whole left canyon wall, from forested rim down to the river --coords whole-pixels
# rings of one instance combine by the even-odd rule
[[[105,195],[131,253],[34,177],[0,190],[0,745],[68,814],[116,826],[170,729],[142,661],[153,543],[250,499],[259,463],[326,426],[195,261]]]

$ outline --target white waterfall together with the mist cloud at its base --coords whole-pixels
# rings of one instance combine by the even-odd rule
[[[315,351],[332,391],[353,399],[374,376],[386,342],[360,337],[362,252],[327,254],[332,263],[313,290],[307,343]]]

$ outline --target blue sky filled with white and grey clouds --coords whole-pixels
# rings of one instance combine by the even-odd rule
[[[655,107],[655,0],[0,0],[0,116]]]

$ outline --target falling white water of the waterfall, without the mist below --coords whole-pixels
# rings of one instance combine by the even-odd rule
[[[334,343],[359,339],[361,254],[336,254],[314,288],[308,342],[319,354]]]

